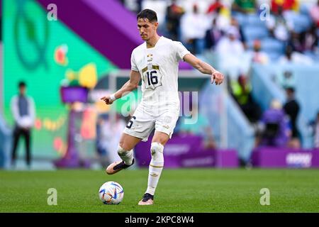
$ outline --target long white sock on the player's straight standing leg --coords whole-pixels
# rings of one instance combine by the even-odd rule
[[[157,187],[159,177],[161,176],[164,167],[164,146],[160,143],[152,143],[151,145],[151,155],[152,160],[148,168],[148,183],[145,193],[154,195]]]

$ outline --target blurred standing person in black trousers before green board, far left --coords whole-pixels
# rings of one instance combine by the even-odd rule
[[[26,164],[30,168],[30,140],[31,129],[35,121],[35,105],[33,99],[26,95],[25,82],[19,82],[18,89],[19,94],[11,99],[11,111],[14,119],[11,165],[16,166],[16,148],[22,135],[26,142]]]

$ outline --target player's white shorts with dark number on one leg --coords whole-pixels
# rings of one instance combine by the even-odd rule
[[[179,106],[173,105],[172,108],[162,111],[144,111],[142,106],[138,106],[123,133],[141,138],[146,142],[155,128],[155,131],[166,133],[169,138],[172,138],[178,118]]]

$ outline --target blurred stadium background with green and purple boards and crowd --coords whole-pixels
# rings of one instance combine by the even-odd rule
[[[198,121],[179,121],[166,167],[319,167],[319,1],[2,0],[1,168],[13,169],[11,98],[21,80],[36,106],[32,170],[100,169],[116,159],[140,94],[111,109],[99,99],[128,79],[142,43],[135,15],[146,8],[161,35],[227,76],[211,86],[181,63],[182,105],[198,104]],[[299,111],[286,105],[287,88]],[[20,142],[14,170],[26,170]],[[148,165],[148,149],[138,146],[138,167]]]

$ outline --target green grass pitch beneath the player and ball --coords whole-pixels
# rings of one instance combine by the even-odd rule
[[[318,212],[319,170],[164,169],[155,204],[138,206],[147,170],[0,171],[1,212]],[[99,187],[116,181],[124,188],[118,205],[99,201]],[[57,189],[57,206],[47,189]],[[260,189],[270,191],[262,206]]]

